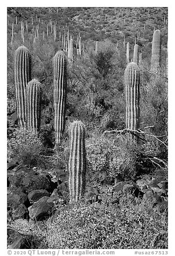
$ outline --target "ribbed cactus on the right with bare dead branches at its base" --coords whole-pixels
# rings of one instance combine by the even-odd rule
[[[137,130],[140,119],[140,72],[135,62],[128,63],[125,70],[126,128]]]

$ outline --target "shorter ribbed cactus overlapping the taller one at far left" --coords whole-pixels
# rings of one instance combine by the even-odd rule
[[[28,82],[26,87],[27,130],[37,133],[41,122],[42,86],[37,79]]]

